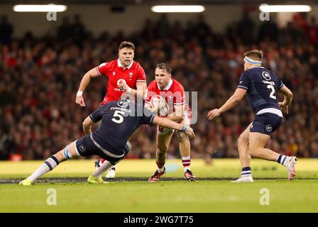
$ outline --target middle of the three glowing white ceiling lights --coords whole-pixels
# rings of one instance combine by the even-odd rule
[[[204,6],[153,6],[151,11],[155,13],[200,13]]]

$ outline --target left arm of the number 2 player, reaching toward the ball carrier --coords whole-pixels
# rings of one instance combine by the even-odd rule
[[[209,120],[212,120],[216,116],[220,116],[224,112],[232,109],[234,106],[236,106],[241,99],[243,99],[243,96],[246,94],[246,89],[237,88],[234,94],[226,101],[226,103],[221,106],[219,109],[212,109],[207,114],[207,118]]]

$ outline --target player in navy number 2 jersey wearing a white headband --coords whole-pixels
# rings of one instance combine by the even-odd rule
[[[261,50],[246,52],[244,54],[244,72],[241,74],[236,91],[223,106],[213,109],[207,114],[209,120],[220,116],[236,106],[245,94],[255,114],[253,122],[237,140],[242,172],[241,177],[234,182],[253,182],[251,156],[276,161],[287,168],[288,179],[292,180],[295,176],[297,161],[295,156],[280,155],[264,148],[270,135],[280,127],[283,114],[288,114],[292,92],[273,72],[261,66],[262,60],[263,52]],[[284,94],[283,102],[278,102],[278,92]]]

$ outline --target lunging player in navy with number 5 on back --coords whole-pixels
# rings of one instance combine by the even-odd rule
[[[91,133],[93,123],[102,121],[97,131]],[[82,138],[75,140],[49,157],[35,170],[33,174],[21,181],[21,185],[34,184],[34,180],[53,170],[60,162],[72,157],[99,155],[104,162],[87,182],[91,184],[104,184],[102,174],[122,160],[131,150],[128,138],[136,129],[143,125],[158,125],[166,128],[173,128],[185,132],[193,138],[192,128],[182,126],[165,118],[160,118],[145,109],[143,105],[128,101],[110,101],[100,106],[99,109],[90,114],[83,122],[84,133]]]

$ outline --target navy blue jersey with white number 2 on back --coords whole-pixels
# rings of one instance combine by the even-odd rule
[[[265,108],[280,109],[278,90],[283,85],[273,72],[264,67],[253,67],[244,71],[238,82],[239,88],[246,89],[246,96],[254,114]]]

